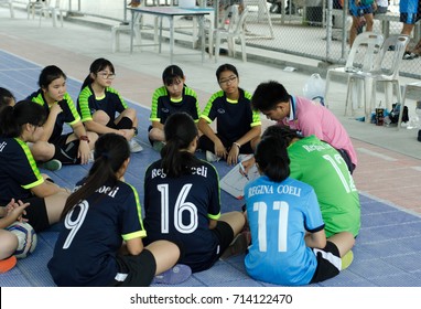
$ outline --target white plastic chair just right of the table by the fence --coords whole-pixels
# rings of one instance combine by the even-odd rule
[[[238,10],[238,8],[237,8]],[[219,58],[219,46],[223,39],[228,41],[228,54],[234,56],[236,55],[235,50],[235,40],[238,39],[241,45],[242,61],[247,62],[246,54],[246,34],[244,30],[245,21],[248,14],[248,8],[241,12],[239,18],[236,18],[236,12],[233,12],[234,18],[228,26],[228,29],[215,29],[215,62],[218,62]],[[237,13],[238,15],[238,13]],[[236,20],[237,19],[237,20]],[[213,42],[209,42],[209,50],[213,47]]]

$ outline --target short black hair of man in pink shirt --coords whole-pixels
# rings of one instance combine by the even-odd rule
[[[290,97],[282,84],[269,81],[257,86],[251,97],[251,105],[255,110],[267,111],[281,102],[289,102]]]

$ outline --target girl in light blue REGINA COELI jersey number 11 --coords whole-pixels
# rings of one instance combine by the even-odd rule
[[[287,147],[267,137],[256,149],[261,177],[245,188],[252,239],[246,270],[257,280],[277,285],[314,284],[349,266],[354,236],[342,232],[326,241],[313,188],[289,177]]]

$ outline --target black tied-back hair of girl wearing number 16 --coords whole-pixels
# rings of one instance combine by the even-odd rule
[[[186,113],[172,114],[165,121],[164,135],[166,143],[161,150],[162,169],[169,177],[181,177],[191,173],[199,160],[188,151],[191,142],[197,138],[197,127]]]

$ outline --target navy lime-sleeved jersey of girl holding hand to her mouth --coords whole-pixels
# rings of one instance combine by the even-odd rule
[[[50,115],[50,106],[44,98],[42,89],[39,89],[36,93],[31,94],[28,97],[28,99],[43,106],[46,115]],[[66,122],[69,126],[73,126],[76,122],[80,121],[80,117],[77,114],[75,104],[73,103],[73,99],[68,93],[65,93],[63,99],[61,102],[57,102],[56,104],[58,104],[60,107],[62,107],[63,111],[57,115],[57,118],[55,120],[53,132],[48,139],[48,142],[51,143],[55,143],[62,136],[64,122]]]

